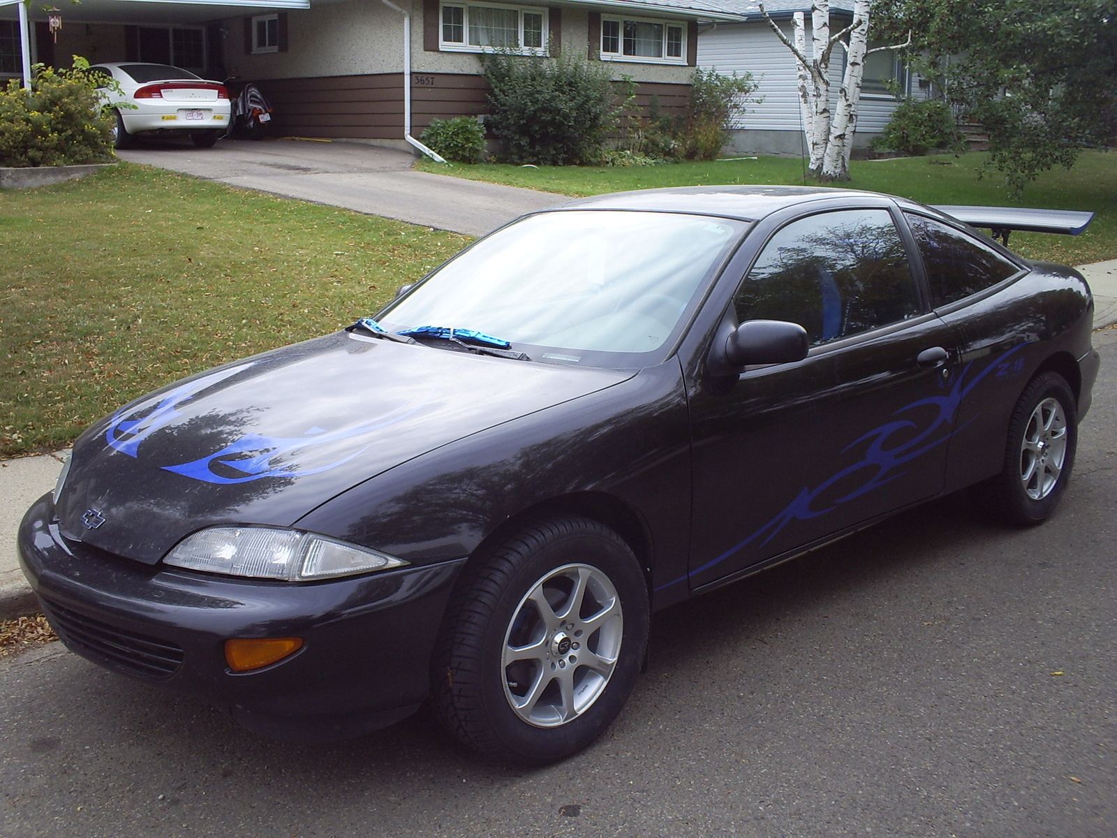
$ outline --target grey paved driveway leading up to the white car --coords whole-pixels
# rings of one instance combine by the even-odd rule
[[[363,143],[222,140],[212,149],[195,149],[152,142],[122,151],[120,158],[470,236],[570,200],[552,192],[414,172],[411,154]]]

